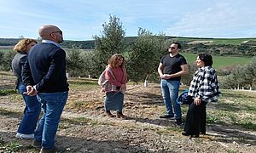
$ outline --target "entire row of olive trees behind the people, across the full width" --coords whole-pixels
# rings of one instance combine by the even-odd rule
[[[167,54],[167,46],[175,41],[175,38],[166,38],[162,33],[154,35],[143,28],[138,29],[136,40],[125,44],[125,31],[122,23],[116,16],[111,16],[108,23],[102,25],[101,36],[94,36],[95,50],[82,51],[77,46],[66,49],[67,51],[67,72],[70,77],[99,77],[108,64],[108,59],[113,54],[125,56],[128,75],[133,82],[143,82],[148,79],[150,82],[158,82],[159,75],[157,67],[160,57]],[[183,49],[186,44],[182,42]],[[199,44],[199,46],[201,46]],[[197,48],[197,46],[195,46]],[[201,46],[202,47],[202,46]],[[204,52],[207,48],[202,47]],[[200,52],[200,48],[198,48]],[[197,52],[197,53],[199,53]],[[13,51],[0,52],[0,69],[9,71]],[[196,70],[195,65],[189,65],[189,75],[184,76],[182,82],[189,85]],[[234,67],[229,76],[221,82],[224,88],[251,87],[255,88],[255,59],[248,65]],[[227,75],[227,74],[226,74]],[[253,78],[253,79],[252,79]]]

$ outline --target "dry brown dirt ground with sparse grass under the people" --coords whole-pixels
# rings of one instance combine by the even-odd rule
[[[234,125],[208,124],[207,134],[189,139],[183,126],[160,119],[165,112],[160,87],[149,84],[131,86],[125,94],[126,120],[104,116],[99,89],[70,91],[55,137],[64,152],[256,152],[256,132]],[[187,107],[184,105],[183,107]],[[5,144],[22,144],[14,152],[38,152],[32,140],[15,139],[24,104],[19,95],[0,96],[0,137]],[[214,109],[214,105],[207,105]],[[186,112],[183,112],[183,119]],[[4,148],[0,148],[0,152]]]

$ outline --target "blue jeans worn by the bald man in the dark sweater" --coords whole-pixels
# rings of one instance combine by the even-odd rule
[[[38,101],[42,104],[44,115],[38,123],[35,139],[42,142],[44,149],[54,148],[55,135],[67,97],[68,92],[38,94]]]

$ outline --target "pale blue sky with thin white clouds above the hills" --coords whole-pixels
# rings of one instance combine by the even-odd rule
[[[0,38],[38,38],[55,25],[65,40],[102,36],[109,15],[119,18],[125,37],[139,27],[174,37],[256,37],[255,0],[1,0]]]

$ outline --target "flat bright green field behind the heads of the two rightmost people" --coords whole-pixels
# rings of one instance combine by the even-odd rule
[[[195,62],[198,54],[186,54],[182,53],[187,59],[188,63]],[[244,65],[250,61],[252,57],[232,57],[232,56],[214,56],[213,55],[213,67],[219,69],[230,65]]]

